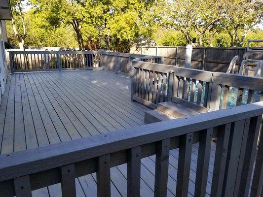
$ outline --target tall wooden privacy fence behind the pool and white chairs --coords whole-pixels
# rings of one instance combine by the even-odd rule
[[[186,47],[133,46],[130,53],[162,56],[164,58],[163,63],[165,65],[182,67],[185,64]],[[241,61],[246,58],[246,55],[249,59],[263,60],[262,52],[247,52],[247,48],[245,47],[193,47],[191,68],[214,72],[225,72],[231,62],[231,59],[236,55],[239,57],[236,69],[240,66]]]

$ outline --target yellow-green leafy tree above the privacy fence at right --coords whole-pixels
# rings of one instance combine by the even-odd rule
[[[260,0],[163,0],[162,25],[181,31],[193,44],[191,32],[199,46],[213,45],[214,36],[228,33],[231,46],[241,46],[246,34],[262,22]],[[242,33],[240,41],[239,34]]]

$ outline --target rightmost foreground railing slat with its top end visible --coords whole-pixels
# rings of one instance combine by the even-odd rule
[[[246,152],[245,152],[246,159],[244,160],[243,163],[240,186],[239,186],[239,196],[244,195],[245,197],[247,197],[249,193],[249,186],[251,183],[254,160],[257,153],[257,142],[260,133],[261,123],[262,123],[262,116],[251,118],[248,137],[247,137]]]

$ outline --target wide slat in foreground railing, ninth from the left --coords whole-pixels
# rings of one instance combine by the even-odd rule
[[[222,190],[222,195],[225,197],[231,197],[234,194],[244,127],[245,120],[234,122],[231,125],[229,145],[227,149],[227,159],[225,164],[225,177]]]

